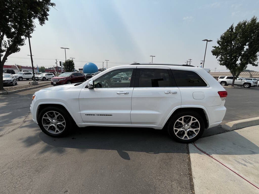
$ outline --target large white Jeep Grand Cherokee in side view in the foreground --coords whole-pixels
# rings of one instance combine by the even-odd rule
[[[125,73],[129,80],[112,78]],[[197,140],[226,113],[227,92],[202,68],[131,64],[105,70],[84,83],[35,92],[32,119],[49,136],[85,126],[167,128],[182,143]]]

